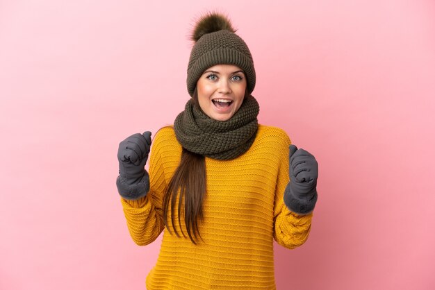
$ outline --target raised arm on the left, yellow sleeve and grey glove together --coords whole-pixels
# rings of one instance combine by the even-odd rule
[[[122,196],[121,203],[131,238],[139,246],[150,244],[165,228],[161,209],[165,178],[154,144],[149,173],[144,168],[150,146],[151,133],[145,132],[125,139],[118,151],[120,176],[116,182],[117,189]]]

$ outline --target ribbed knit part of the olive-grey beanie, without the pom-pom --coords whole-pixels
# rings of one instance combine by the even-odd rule
[[[187,87],[193,96],[199,77],[214,65],[236,65],[245,71],[247,90],[254,90],[256,83],[254,60],[246,43],[231,31],[221,30],[203,35],[195,43],[188,64]]]

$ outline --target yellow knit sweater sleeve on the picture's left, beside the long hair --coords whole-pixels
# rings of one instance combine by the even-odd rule
[[[131,238],[139,246],[151,244],[165,228],[162,200],[166,182],[161,160],[161,147],[161,138],[158,138],[157,133],[149,157],[148,194],[136,201],[121,198]]]

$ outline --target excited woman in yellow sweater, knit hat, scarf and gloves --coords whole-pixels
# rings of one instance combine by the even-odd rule
[[[133,241],[163,231],[147,289],[274,289],[273,241],[291,249],[309,236],[318,163],[258,124],[252,56],[226,17],[199,19],[192,40],[186,108],[152,148],[137,133],[117,154]]]

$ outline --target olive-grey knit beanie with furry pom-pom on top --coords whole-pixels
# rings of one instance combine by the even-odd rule
[[[198,79],[213,65],[236,65],[245,71],[247,90],[255,87],[255,69],[251,52],[227,17],[216,12],[208,13],[195,25],[191,40],[195,45],[190,53],[187,85],[193,96]]]

